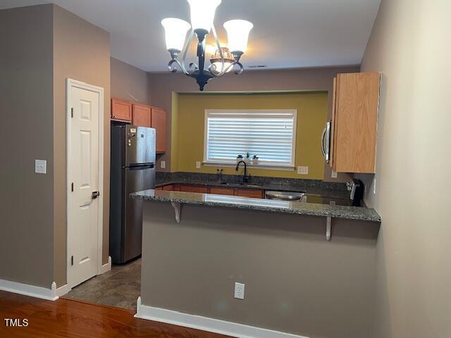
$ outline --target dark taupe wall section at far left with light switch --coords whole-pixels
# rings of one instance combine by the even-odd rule
[[[53,9],[0,11],[0,279],[53,281]],[[47,175],[35,174],[35,158]]]

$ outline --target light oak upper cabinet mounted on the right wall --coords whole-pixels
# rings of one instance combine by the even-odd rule
[[[337,173],[374,173],[381,74],[338,74],[334,84],[330,165]]]

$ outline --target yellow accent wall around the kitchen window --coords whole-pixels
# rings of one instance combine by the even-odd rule
[[[173,102],[177,101],[178,106],[173,106],[175,109],[171,125],[172,171],[216,173],[216,169],[223,168],[226,174],[236,174],[235,168],[225,166],[202,165],[200,169],[196,168],[196,161],[202,162],[204,157],[206,109],[297,109],[295,166],[307,165],[309,174],[298,175],[296,168],[249,168],[249,173],[254,176],[323,180],[324,160],[320,140],[327,119],[327,92],[178,94],[178,99],[173,97]]]

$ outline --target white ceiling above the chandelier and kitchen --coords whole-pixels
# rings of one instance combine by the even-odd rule
[[[149,72],[166,71],[170,59],[160,21],[189,21],[186,0],[0,0],[0,8],[53,2],[111,33],[111,56]],[[223,0],[215,27],[249,20],[254,29],[242,57],[245,68],[266,69],[357,65],[381,0]],[[211,38],[207,44],[213,44]],[[194,46],[192,46],[194,54]],[[192,59],[194,61],[194,58]]]

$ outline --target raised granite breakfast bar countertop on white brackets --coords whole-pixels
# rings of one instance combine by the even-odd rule
[[[194,192],[168,192],[164,190],[144,190],[131,194],[132,199],[144,201],[163,201],[203,206],[221,206],[226,208],[271,211],[278,213],[295,213],[319,217],[346,218],[350,220],[368,220],[381,222],[381,216],[372,208],[355,206],[333,206],[329,204],[314,204],[273,199],[249,199],[240,196],[217,194],[199,194]]]

